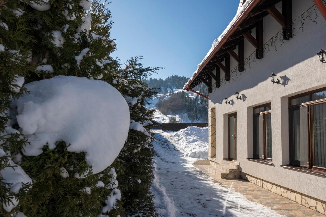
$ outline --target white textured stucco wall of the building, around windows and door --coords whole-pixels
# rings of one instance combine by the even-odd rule
[[[292,20],[314,4],[312,0],[292,2]],[[281,9],[281,4],[276,5],[276,8]],[[246,65],[245,73],[233,76],[230,82],[222,83],[221,88],[209,94],[209,108],[216,108],[216,161],[221,162],[228,157],[228,114],[237,112],[237,155],[240,170],[326,201],[325,177],[280,166],[289,164],[288,97],[326,86],[326,65],[322,65],[316,56],[321,48],[326,49],[326,21],[317,8],[316,12],[319,16],[316,20],[318,24],[304,17],[304,31],[299,30],[295,24],[295,36],[292,39],[284,41],[281,47],[278,43],[277,51],[272,48],[268,55],[265,52],[264,58],[257,60],[257,65],[255,62],[250,63],[251,70]],[[264,42],[282,29],[270,15],[263,22]],[[255,36],[254,30],[252,35]],[[244,58],[254,51],[254,47],[245,39]],[[232,69],[237,63],[232,57],[230,59]],[[288,78],[287,85],[273,84],[269,78],[273,72],[281,83],[282,78]],[[224,76],[222,70],[220,75]],[[236,91],[244,94],[244,101],[236,99]],[[225,97],[234,104],[225,104]],[[273,165],[246,159],[253,157],[252,108],[267,102],[272,105]]]

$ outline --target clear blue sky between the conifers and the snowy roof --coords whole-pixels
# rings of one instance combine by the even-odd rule
[[[112,0],[119,57],[144,56],[143,66],[162,66],[155,78],[190,77],[233,19],[239,0]]]

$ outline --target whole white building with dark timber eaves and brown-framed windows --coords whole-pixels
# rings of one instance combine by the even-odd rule
[[[242,0],[184,87],[193,91],[201,82],[209,87],[209,159],[215,173],[242,176],[322,214],[326,64],[316,53],[326,50],[325,5]]]

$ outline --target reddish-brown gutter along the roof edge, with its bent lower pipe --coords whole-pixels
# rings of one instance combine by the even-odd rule
[[[249,0],[248,0],[249,1]],[[244,19],[246,18],[246,16],[250,13],[250,11],[256,7],[261,0],[252,0],[246,8],[244,8],[244,10],[241,12],[241,15],[237,18],[237,20],[233,23],[232,28],[230,28],[230,30],[221,38],[221,40],[218,42],[218,44],[216,45],[216,47],[214,48],[214,50],[209,54],[209,56],[206,58],[206,60],[201,64],[201,66],[199,67],[199,69],[197,70],[197,74],[195,75],[195,77],[193,77],[191,79],[190,82],[188,82],[187,85],[187,90],[194,92],[195,94],[198,94],[206,99],[209,99],[208,96],[205,96],[203,94],[200,94],[194,90],[190,89],[190,83],[197,77],[197,75],[199,74],[199,72],[204,68],[205,65],[207,65],[207,63],[209,62],[210,59],[212,59],[215,55],[215,53],[220,50],[220,48],[222,47],[222,45],[227,42],[227,40],[229,39],[229,37],[237,30],[238,26],[244,21]],[[315,1],[315,0],[314,0]],[[318,1],[318,0],[316,0]],[[321,1],[321,0],[319,0]]]

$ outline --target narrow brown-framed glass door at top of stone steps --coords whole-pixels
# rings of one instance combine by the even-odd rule
[[[237,114],[229,115],[229,160],[237,159]]]

